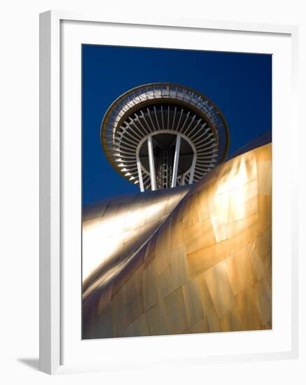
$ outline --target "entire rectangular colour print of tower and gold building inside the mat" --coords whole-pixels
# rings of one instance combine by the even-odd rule
[[[82,338],[272,328],[272,55],[82,45]]]

